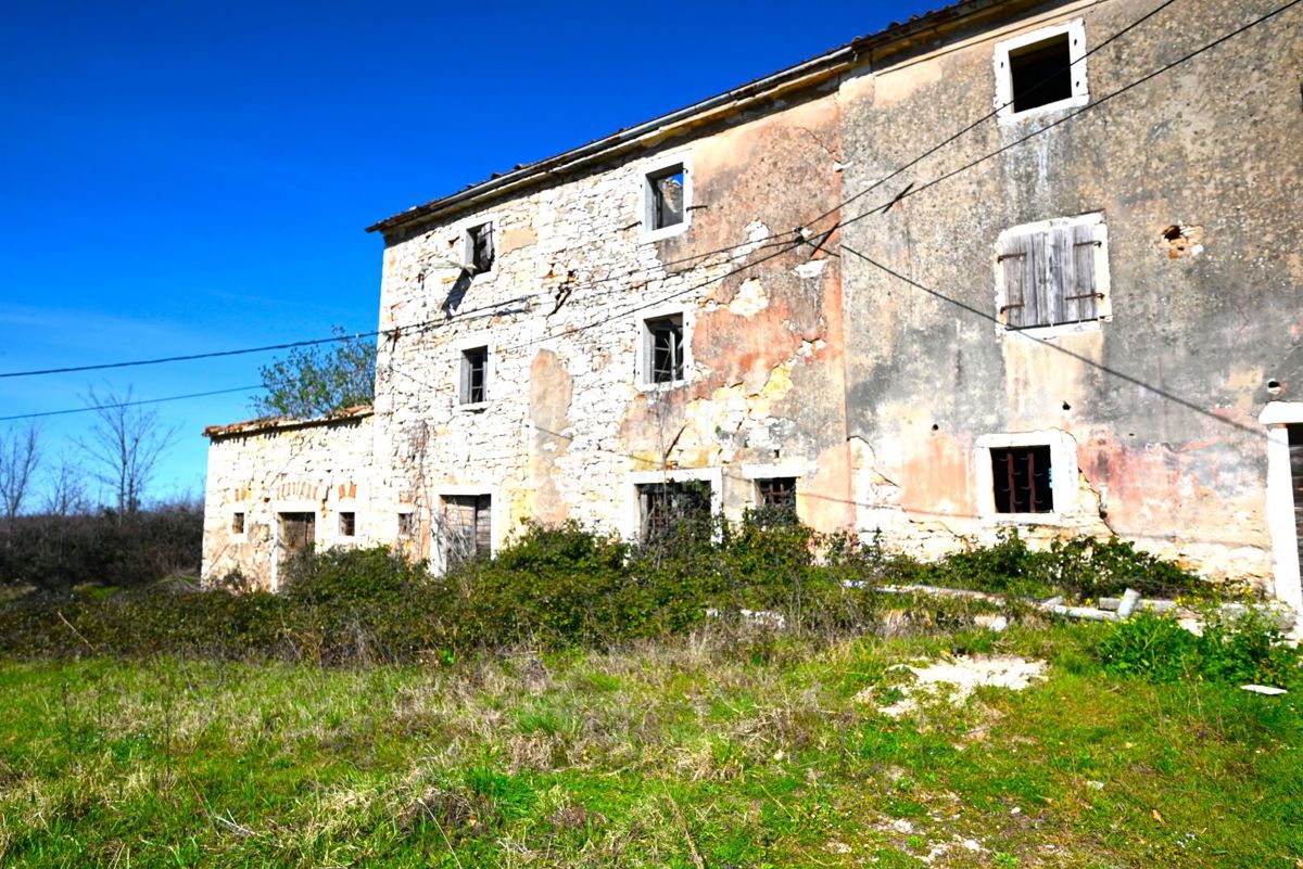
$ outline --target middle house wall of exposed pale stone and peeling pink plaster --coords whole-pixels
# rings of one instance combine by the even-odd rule
[[[790,241],[837,206],[838,130],[825,96],[388,238],[380,328],[401,333],[378,360],[386,509],[416,509],[420,541],[438,541],[448,492],[493,494],[498,542],[528,519],[632,535],[638,472],[717,474],[736,515],[754,501],[745,472],[780,464],[801,470],[810,522],[844,524],[839,268]],[[691,160],[691,224],[646,241],[646,160],[676,150]],[[447,260],[485,220],[496,263],[468,280]],[[644,388],[641,321],[666,311],[691,332],[687,382]],[[493,359],[489,401],[472,410],[457,403],[468,342]]]

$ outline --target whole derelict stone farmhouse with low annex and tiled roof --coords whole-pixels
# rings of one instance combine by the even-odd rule
[[[1281,5],[964,0],[382,220],[374,407],[208,428],[205,575],[770,503],[1299,606]]]

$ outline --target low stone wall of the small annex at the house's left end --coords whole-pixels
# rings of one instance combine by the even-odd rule
[[[203,498],[203,579],[231,572],[276,588],[285,555],[280,514],[311,513],[319,549],[391,542],[397,519],[373,511],[373,424],[369,415],[306,423],[232,427],[212,436]],[[340,533],[341,511],[356,515],[354,536]],[[235,514],[244,533],[235,533]]]

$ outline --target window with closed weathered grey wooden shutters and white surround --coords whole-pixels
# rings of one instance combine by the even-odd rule
[[[1083,323],[1101,316],[1102,224],[1097,220],[1055,224],[1001,234],[999,314],[1010,329]]]

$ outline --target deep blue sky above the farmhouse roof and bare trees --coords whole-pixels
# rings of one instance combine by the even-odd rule
[[[364,226],[928,5],[13,4],[0,372],[373,329]],[[272,355],[0,379],[0,416],[254,385]],[[202,493],[201,431],[249,397],[156,407],[179,438],[151,494]],[[46,455],[91,420],[42,420]]]

